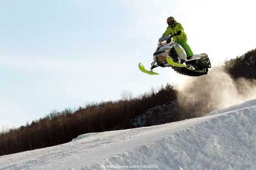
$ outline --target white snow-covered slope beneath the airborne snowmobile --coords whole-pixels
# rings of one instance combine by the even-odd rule
[[[256,169],[256,100],[200,118],[89,133],[0,157],[0,169]]]

